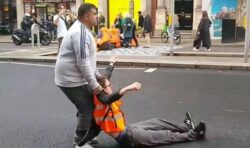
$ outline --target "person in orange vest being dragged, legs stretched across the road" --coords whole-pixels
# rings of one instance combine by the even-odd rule
[[[102,131],[113,137],[125,147],[153,147],[205,138],[206,125],[201,121],[193,125],[190,113],[186,113],[183,124],[175,124],[165,119],[151,119],[126,125],[120,100],[130,91],[138,91],[141,84],[132,83],[118,91],[112,92],[108,79],[112,75],[113,64],[106,69],[107,79],[100,82],[104,90],[94,96],[94,119]]]

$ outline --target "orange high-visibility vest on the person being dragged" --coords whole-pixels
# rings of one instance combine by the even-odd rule
[[[104,105],[94,95],[94,103],[95,122],[104,132],[119,133],[124,131],[126,124],[124,114],[120,109],[121,100],[110,105]]]

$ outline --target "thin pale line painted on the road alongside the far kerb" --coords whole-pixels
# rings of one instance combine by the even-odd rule
[[[22,63],[22,62],[0,62],[0,64],[17,64],[17,65],[27,65],[27,66],[38,66],[38,67],[50,67],[50,68],[55,68],[55,65],[47,65],[47,64],[33,64],[33,63]],[[98,69],[106,69],[106,68],[98,68]],[[138,67],[123,67],[123,68],[115,68],[119,70],[144,70],[145,68],[138,68]]]

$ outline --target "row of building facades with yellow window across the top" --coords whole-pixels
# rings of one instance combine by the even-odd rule
[[[3,22],[9,22],[12,28],[15,27],[15,24],[20,27],[25,13],[36,15],[38,20],[46,20],[49,15],[55,14],[59,3],[64,3],[68,9],[77,13],[78,7],[84,2],[93,3],[98,7],[98,11],[107,20],[107,26],[113,24],[117,14],[130,13],[137,21],[138,11],[147,11],[152,18],[154,35],[162,30],[171,10],[171,0],[1,0],[0,26],[5,25]],[[220,36],[219,32],[214,33],[213,31],[221,31],[223,15],[229,16],[226,19],[235,19],[237,26],[244,26],[246,0],[175,0],[174,5],[180,30],[195,33],[203,10],[208,11],[215,24],[211,29],[215,36]]]

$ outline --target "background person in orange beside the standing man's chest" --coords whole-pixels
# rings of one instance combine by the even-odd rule
[[[111,34],[109,29],[104,26],[104,24],[100,25],[101,29],[97,36],[97,47],[99,50],[108,50],[110,49],[111,44]]]

